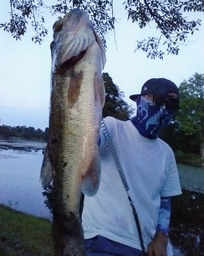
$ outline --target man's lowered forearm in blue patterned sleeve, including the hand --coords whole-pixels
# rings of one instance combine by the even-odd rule
[[[170,197],[161,197],[158,225],[155,238],[147,247],[148,256],[167,256],[168,231],[171,215]]]

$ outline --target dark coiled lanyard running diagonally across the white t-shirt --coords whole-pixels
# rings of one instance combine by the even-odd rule
[[[138,230],[138,234],[139,234],[139,238],[140,238],[140,244],[141,244],[141,247],[142,247],[142,253],[143,253],[143,256],[146,255],[146,252],[145,252],[145,249],[144,249],[144,242],[143,242],[143,238],[142,238],[142,231],[141,231],[141,227],[140,227],[140,222],[139,222],[139,218],[138,218],[138,215],[137,215],[137,211],[135,209],[135,206],[134,206],[134,202],[133,200],[131,199],[130,195],[129,195],[129,185],[127,184],[127,181],[126,181],[126,178],[124,176],[124,172],[123,172],[123,169],[122,169],[122,166],[120,164],[120,161],[118,159],[118,156],[117,156],[117,152],[115,150],[115,147],[113,145],[113,141],[110,137],[110,134],[109,134],[109,131],[108,131],[108,127],[106,125],[106,122],[105,120],[102,120],[101,121],[101,129],[103,131],[103,134],[105,136],[105,139],[106,139],[106,142],[107,142],[107,145],[109,147],[109,150],[113,156],[113,159],[114,159],[114,162],[116,164],[116,167],[117,167],[117,170],[118,170],[118,173],[120,175],[120,178],[122,180],[122,184],[126,190],[126,193],[127,193],[127,197],[130,201],[130,204],[131,204],[131,207],[133,209],[133,215],[134,215],[134,218],[135,218],[135,222],[136,222],[136,225],[137,225],[137,230]]]

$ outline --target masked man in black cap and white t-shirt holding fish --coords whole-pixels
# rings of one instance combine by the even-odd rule
[[[142,256],[144,244],[148,256],[172,256],[170,197],[180,195],[181,186],[173,152],[158,130],[179,109],[179,91],[172,81],[153,78],[130,98],[137,102],[132,120],[107,117],[101,125],[100,185],[94,197],[85,197],[82,215],[87,255]]]

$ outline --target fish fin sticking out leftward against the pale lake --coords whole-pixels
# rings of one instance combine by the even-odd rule
[[[46,187],[48,187],[49,184],[52,182],[53,173],[53,166],[49,159],[49,145],[47,144],[40,173],[40,180],[43,189],[46,189]]]

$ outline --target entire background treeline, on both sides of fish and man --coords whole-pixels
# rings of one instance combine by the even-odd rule
[[[129,120],[134,113],[132,105],[123,100],[124,94],[108,73],[103,73],[106,100],[103,117],[112,116]],[[159,137],[172,148],[176,161],[204,163],[204,74],[195,73],[179,86],[180,110],[171,122],[159,131]],[[0,138],[19,137],[48,141],[48,127],[41,129],[26,126],[0,126]]]

